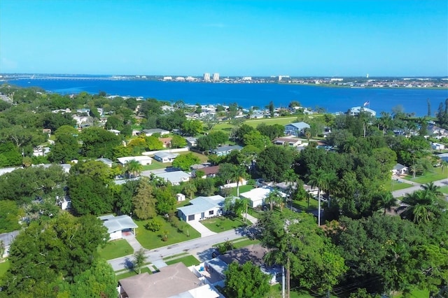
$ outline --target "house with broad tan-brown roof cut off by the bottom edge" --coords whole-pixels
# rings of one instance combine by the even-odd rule
[[[144,272],[118,281],[120,298],[218,298],[213,285],[198,277],[182,262],[162,267],[159,272]]]

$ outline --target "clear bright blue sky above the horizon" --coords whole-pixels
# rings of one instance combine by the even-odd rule
[[[448,1],[1,0],[0,72],[448,76]]]

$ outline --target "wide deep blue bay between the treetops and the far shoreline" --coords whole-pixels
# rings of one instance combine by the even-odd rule
[[[441,102],[448,98],[448,90],[419,88],[349,88],[318,87],[275,83],[182,83],[155,80],[105,80],[105,79],[22,79],[8,83],[21,87],[41,87],[59,94],[104,91],[111,95],[155,98],[165,101],[183,100],[187,104],[231,104],[237,102],[244,108],[263,108],[273,101],[275,106],[288,106],[299,101],[309,108],[322,107],[330,113],[345,112],[353,106],[363,106],[391,113],[395,106],[402,106],[405,113],[423,116],[428,113],[430,101],[432,115]]]

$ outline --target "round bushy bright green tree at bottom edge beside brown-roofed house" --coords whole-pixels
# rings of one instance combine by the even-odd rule
[[[269,276],[251,261],[242,265],[232,262],[224,274],[226,297],[265,297],[269,292]]]

